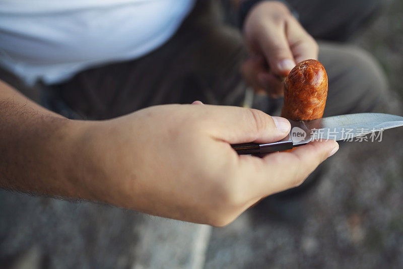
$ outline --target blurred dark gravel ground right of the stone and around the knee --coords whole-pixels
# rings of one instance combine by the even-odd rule
[[[403,115],[403,2],[385,1],[381,12],[354,43],[387,74],[383,111]],[[402,137],[397,128],[381,143],[341,145],[316,189],[274,205],[287,221],[270,211],[263,221],[251,209],[213,229],[205,268],[403,268]]]

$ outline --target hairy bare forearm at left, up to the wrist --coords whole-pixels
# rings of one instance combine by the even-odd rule
[[[82,126],[0,82],[0,187],[89,198],[76,163]]]

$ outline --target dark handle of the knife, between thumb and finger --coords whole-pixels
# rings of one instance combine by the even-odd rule
[[[270,153],[276,151],[290,150],[294,147],[291,137],[267,144],[256,144],[256,143],[246,143],[246,144],[234,144],[231,147],[239,154],[259,154],[259,153]]]

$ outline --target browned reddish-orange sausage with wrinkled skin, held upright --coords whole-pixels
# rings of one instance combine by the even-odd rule
[[[314,59],[298,63],[284,81],[281,116],[291,120],[321,118],[327,98],[327,74]]]

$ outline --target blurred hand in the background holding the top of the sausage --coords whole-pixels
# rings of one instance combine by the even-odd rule
[[[317,59],[318,45],[281,2],[262,1],[245,19],[244,37],[250,58],[242,73],[256,91],[283,95],[282,77],[296,63]]]

